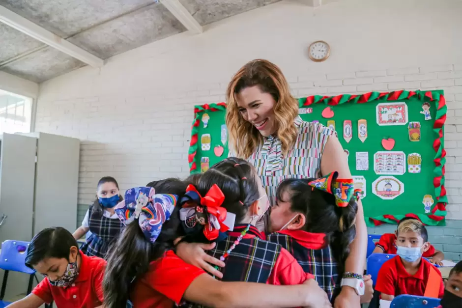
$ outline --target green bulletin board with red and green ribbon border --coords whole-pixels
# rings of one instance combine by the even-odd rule
[[[430,106],[429,114],[424,114],[423,105]],[[368,225],[396,224],[405,216],[418,217],[428,225],[445,225],[443,125],[447,107],[442,91],[310,96],[300,98],[299,106],[305,121],[326,126],[335,122],[340,143],[349,152],[346,157],[355,184],[365,193],[362,203]],[[225,103],[196,106],[189,150],[191,173],[201,172],[203,161],[212,166],[228,156],[225,113]],[[377,124],[378,118],[384,125]],[[367,138],[363,142],[358,128],[364,120]],[[351,121],[349,142],[344,137],[344,121]]]

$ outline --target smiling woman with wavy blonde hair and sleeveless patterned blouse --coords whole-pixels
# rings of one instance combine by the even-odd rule
[[[277,186],[285,179],[318,178],[333,171],[339,172],[339,178],[351,178],[336,132],[300,118],[298,101],[275,64],[262,59],[245,64],[231,79],[226,99],[230,156],[255,166],[272,206],[277,205]],[[268,230],[266,221],[261,220],[260,229],[266,225]],[[345,264],[347,276],[335,308],[360,307],[358,277],[364,271],[367,249],[361,201],[355,225],[356,237]]]

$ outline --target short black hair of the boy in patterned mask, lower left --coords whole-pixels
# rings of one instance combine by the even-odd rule
[[[79,248],[71,232],[62,227],[46,228],[38,232],[29,243],[26,266],[33,269],[46,258],[65,258],[69,261],[71,247]]]

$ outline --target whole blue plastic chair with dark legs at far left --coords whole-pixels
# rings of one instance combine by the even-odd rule
[[[32,291],[32,283],[35,277],[35,271],[26,266],[26,255],[29,242],[7,240],[1,244],[0,269],[4,270],[3,281],[0,291],[0,308],[11,304],[3,301],[5,296],[6,283],[8,281],[9,271],[29,274],[29,285],[27,294]]]

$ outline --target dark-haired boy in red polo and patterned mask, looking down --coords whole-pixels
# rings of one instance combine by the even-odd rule
[[[102,307],[106,261],[79,251],[77,241],[62,227],[46,228],[29,244],[26,265],[45,276],[24,299],[10,308]]]

